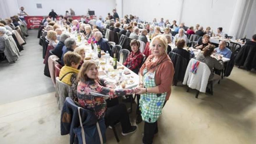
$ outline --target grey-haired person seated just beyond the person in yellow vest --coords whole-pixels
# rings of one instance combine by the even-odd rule
[[[74,51],[77,47],[76,40],[74,38],[67,38],[64,42],[65,46],[62,48],[61,62],[64,65],[64,54],[68,51]]]

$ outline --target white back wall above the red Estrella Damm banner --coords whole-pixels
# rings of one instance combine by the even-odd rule
[[[95,15],[106,17],[115,8],[115,0],[17,0],[18,5],[24,6],[29,15],[48,15],[51,9],[58,15],[65,15],[65,11],[72,8],[76,15],[86,15],[88,8],[95,11]],[[36,8],[41,3],[42,8]]]

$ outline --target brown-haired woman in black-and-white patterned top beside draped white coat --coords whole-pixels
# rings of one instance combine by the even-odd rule
[[[203,52],[197,55],[196,59],[202,63],[205,63],[209,67],[209,69],[211,70],[209,81],[213,80],[213,84],[216,84],[221,79],[221,76],[219,76],[218,74],[214,74],[213,70],[214,68],[217,70],[223,70],[224,64],[221,60],[221,56],[218,56],[218,60],[211,57],[211,54],[214,52],[214,48],[214,45],[207,45],[203,49]],[[209,88],[206,89],[206,92],[209,92]]]

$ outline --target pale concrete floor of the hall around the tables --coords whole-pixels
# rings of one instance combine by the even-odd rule
[[[27,45],[17,63],[0,63],[0,143],[67,144],[60,135],[60,111],[51,79],[43,75],[42,49],[36,30],[30,30]],[[159,118],[155,144],[254,144],[256,141],[256,74],[234,67],[230,77],[214,87],[214,95],[186,86],[173,86],[170,100]],[[36,81],[38,81],[36,83]],[[134,104],[135,108],[136,104]],[[130,115],[135,123],[135,112]],[[141,144],[143,122],[120,144]],[[107,143],[117,143],[107,129]]]

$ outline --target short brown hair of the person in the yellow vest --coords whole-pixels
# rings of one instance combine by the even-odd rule
[[[66,52],[63,57],[64,64],[67,66],[71,66],[72,62],[78,64],[81,59],[81,56],[73,51]]]

